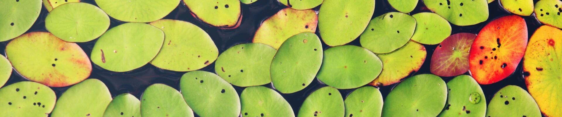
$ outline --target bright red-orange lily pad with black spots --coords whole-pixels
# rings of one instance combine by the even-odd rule
[[[527,47],[527,24],[516,15],[488,23],[470,47],[472,77],[480,84],[492,84],[511,75]]]

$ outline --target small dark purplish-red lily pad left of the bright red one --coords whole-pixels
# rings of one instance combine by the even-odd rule
[[[475,38],[476,34],[457,33],[443,40],[433,51],[431,73],[441,77],[454,77],[466,73],[469,69],[470,45]]]

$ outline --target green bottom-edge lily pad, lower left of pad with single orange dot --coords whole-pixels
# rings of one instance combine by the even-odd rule
[[[255,86],[242,91],[242,116],[287,116],[294,117],[293,109],[273,89]]]

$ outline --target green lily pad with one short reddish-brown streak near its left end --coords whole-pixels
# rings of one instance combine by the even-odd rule
[[[154,59],[163,42],[162,30],[144,23],[129,22],[115,26],[99,37],[90,59],[103,69],[130,71]]]

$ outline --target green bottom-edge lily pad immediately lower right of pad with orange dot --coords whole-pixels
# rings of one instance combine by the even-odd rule
[[[298,117],[303,116],[344,116],[345,105],[342,95],[338,89],[333,87],[323,87],[310,93],[302,102],[301,109],[298,110]]]

